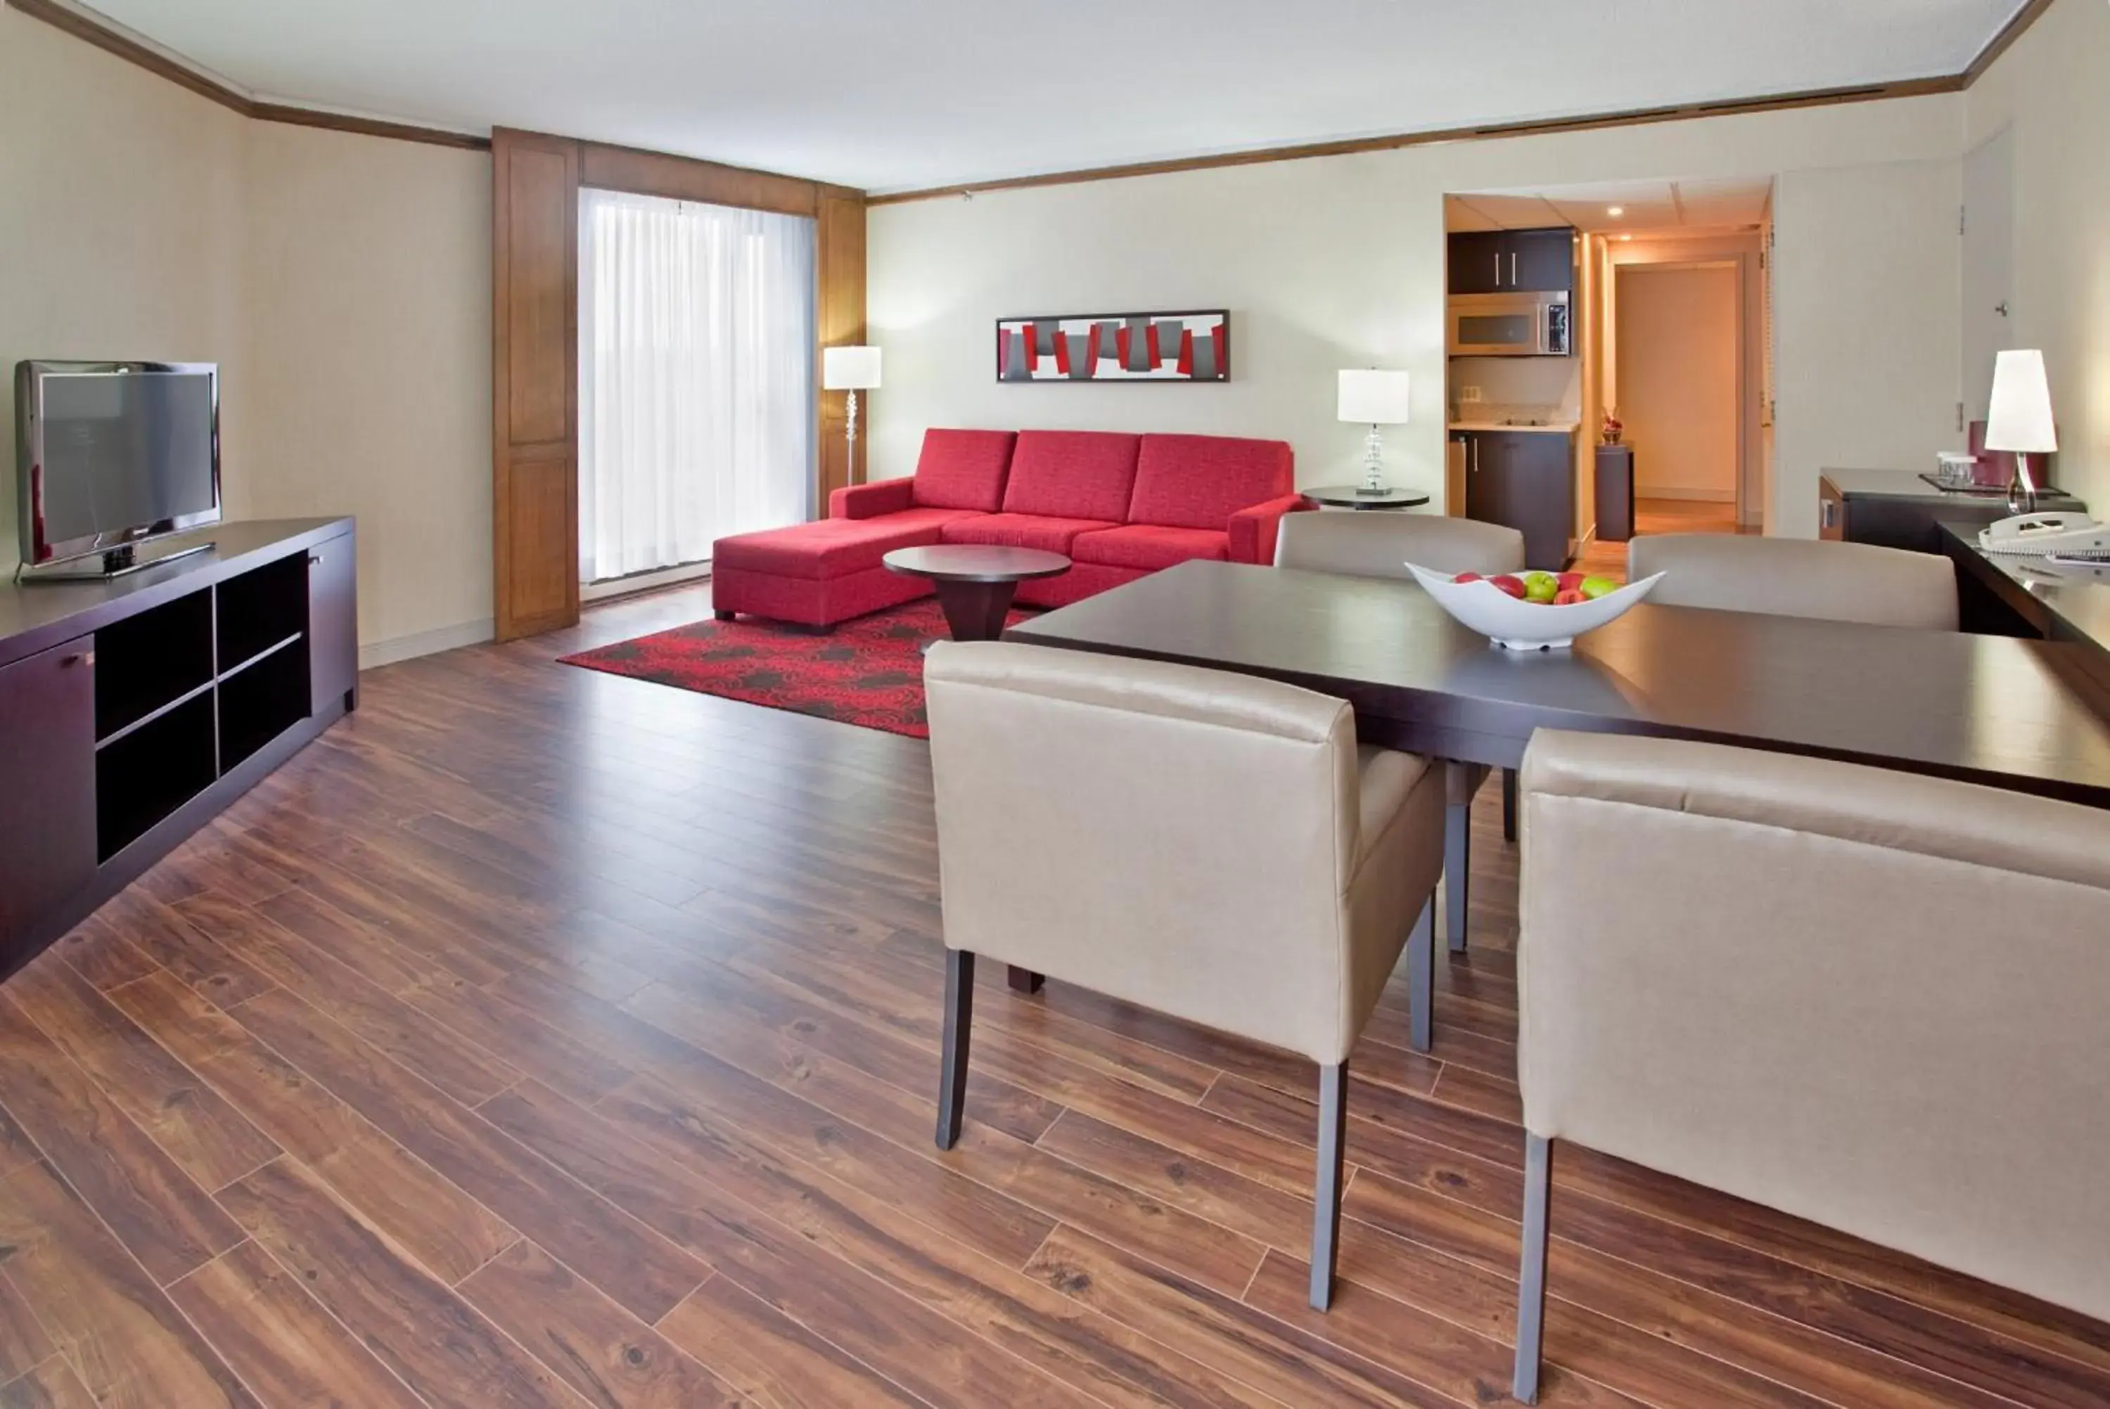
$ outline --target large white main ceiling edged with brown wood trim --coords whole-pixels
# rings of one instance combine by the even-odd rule
[[[1954,74],[2023,0],[95,0],[236,86],[867,190]]]

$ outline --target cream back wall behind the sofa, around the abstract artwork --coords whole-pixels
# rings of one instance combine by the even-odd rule
[[[1796,297],[1781,300],[1783,365],[1802,361],[1812,384],[1857,382],[1880,352],[1840,342],[1842,327],[1948,346],[1954,363],[1954,293],[1926,323],[1922,285],[1956,285],[1954,209],[1933,215],[1922,202],[1910,219],[1872,219],[1861,181],[1926,162],[1954,186],[1960,114],[1962,95],[1941,95],[874,207],[869,319],[886,388],[871,399],[871,466],[914,468],[926,426],[1106,426],[1283,437],[1302,483],[1338,481],[1353,477],[1359,430],[1334,420],[1334,371],[1384,365],[1416,380],[1414,424],[1386,435],[1393,479],[1441,498],[1443,194],[1454,190],[1766,173],[1785,186],[1808,173],[1781,240],[1825,255],[1800,259]],[[1878,257],[1895,274],[1846,276]],[[1232,310],[1228,386],[994,380],[998,316],[1217,306]],[[1815,534],[1817,470],[1834,445],[1882,464],[1931,462],[1924,407],[1954,401],[1956,371],[1905,361],[1888,378],[1895,399],[1846,405],[1783,386],[1781,527]]]

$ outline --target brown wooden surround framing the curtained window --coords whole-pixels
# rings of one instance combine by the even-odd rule
[[[519,215],[515,158],[523,152],[557,154],[565,162],[568,314],[561,350],[549,344],[557,335],[549,321],[530,319],[523,327],[515,319],[517,302],[532,293],[517,285],[523,270],[513,249],[521,234],[515,224]],[[582,186],[804,215],[814,221],[814,513],[827,513],[833,489],[863,481],[861,466],[842,437],[848,397],[819,386],[823,348],[865,342],[865,192],[603,141],[496,129],[492,133],[492,572],[500,641],[578,622],[578,190]],[[540,348],[544,356],[563,359],[570,384],[563,435],[555,439],[521,439],[515,367],[532,352],[521,340],[534,335],[544,340]],[[561,479],[555,485],[536,485],[534,496],[540,500],[536,504],[525,502],[530,466],[557,466]],[[561,515],[565,525],[568,588],[561,603],[546,591],[549,574],[555,570],[549,561],[551,515]]]

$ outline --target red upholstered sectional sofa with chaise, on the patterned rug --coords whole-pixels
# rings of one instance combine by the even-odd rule
[[[926,430],[916,472],[836,489],[829,517],[720,538],[711,603],[720,620],[768,616],[806,626],[931,593],[880,563],[935,542],[1070,555],[1059,578],[1019,584],[1028,605],[1063,605],[1196,557],[1274,561],[1296,494],[1285,441],[1108,430]]]

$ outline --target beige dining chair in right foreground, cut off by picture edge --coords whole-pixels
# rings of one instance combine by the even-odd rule
[[[1521,787],[1517,1398],[1564,1143],[2110,1318],[2110,814],[1547,730]]]

